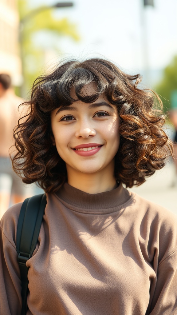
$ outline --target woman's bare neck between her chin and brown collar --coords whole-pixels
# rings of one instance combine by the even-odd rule
[[[97,173],[81,173],[78,176],[78,174],[74,173],[75,171],[73,171],[72,174],[68,172],[68,184],[89,194],[108,192],[117,187],[117,182],[114,174],[110,174],[108,176],[107,173],[103,173],[101,175]]]

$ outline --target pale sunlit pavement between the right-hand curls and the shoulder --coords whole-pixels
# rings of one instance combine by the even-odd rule
[[[174,165],[169,162],[163,169],[156,171],[141,186],[128,189],[177,215],[177,186],[171,187],[174,176]]]

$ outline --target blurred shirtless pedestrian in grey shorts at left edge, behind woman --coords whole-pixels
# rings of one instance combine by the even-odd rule
[[[9,148],[13,145],[13,129],[18,123],[18,106],[22,99],[15,95],[9,74],[0,74],[0,217],[12,203],[24,200],[25,186],[12,169]]]

